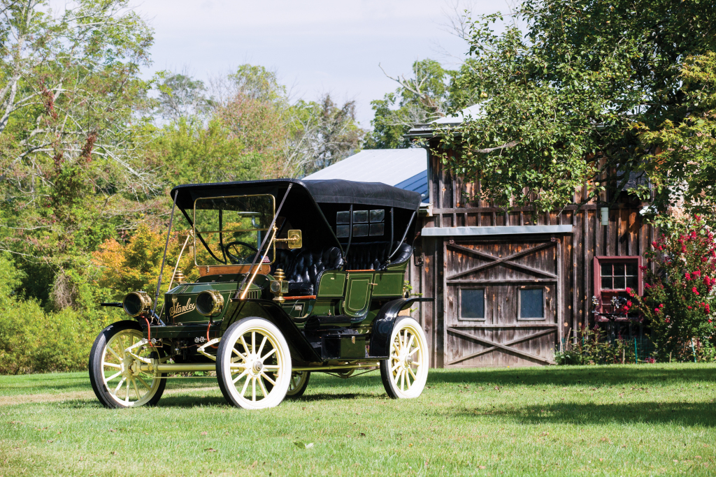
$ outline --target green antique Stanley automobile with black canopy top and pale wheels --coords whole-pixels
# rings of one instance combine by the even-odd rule
[[[157,292],[130,292],[130,319],[95,340],[89,376],[107,407],[154,405],[166,379],[216,371],[229,403],[270,408],[304,393],[311,373],[380,370],[391,398],[416,398],[427,380],[425,333],[410,318],[404,275],[417,192],[344,180],[180,185],[182,252],[200,277],[174,267]],[[187,245],[189,247],[187,247]],[[165,267],[163,258],[162,270]],[[169,270],[169,269],[168,269]]]

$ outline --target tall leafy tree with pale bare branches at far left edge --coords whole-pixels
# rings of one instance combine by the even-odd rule
[[[47,278],[37,286],[57,307],[87,303],[87,251],[127,212],[112,198],[160,190],[138,151],[151,31],[125,0],[57,15],[46,1],[2,0],[0,38],[0,248],[30,281]]]

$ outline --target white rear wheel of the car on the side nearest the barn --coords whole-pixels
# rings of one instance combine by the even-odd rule
[[[420,324],[399,318],[390,335],[390,358],[380,362],[380,377],[393,399],[417,398],[427,382],[427,340]]]

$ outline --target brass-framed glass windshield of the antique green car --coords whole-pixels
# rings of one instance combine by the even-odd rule
[[[269,232],[274,207],[274,196],[270,194],[197,199],[194,202],[196,265],[250,265]],[[274,262],[274,245],[270,245],[264,260],[264,263],[271,262]]]

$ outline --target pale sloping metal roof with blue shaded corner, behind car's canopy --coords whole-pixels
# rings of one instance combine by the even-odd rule
[[[419,192],[427,201],[427,151],[415,149],[364,149],[358,154],[307,175],[303,180],[343,179],[382,182]]]

